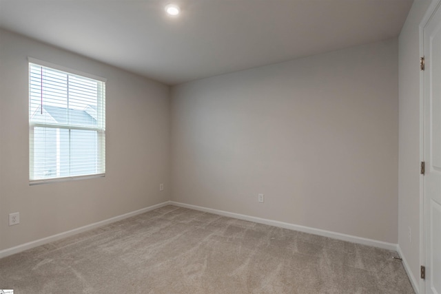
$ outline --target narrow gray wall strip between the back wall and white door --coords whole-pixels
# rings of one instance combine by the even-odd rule
[[[419,25],[430,0],[418,0],[399,37],[398,244],[413,276],[420,271],[420,58]],[[409,228],[411,240],[409,241]]]

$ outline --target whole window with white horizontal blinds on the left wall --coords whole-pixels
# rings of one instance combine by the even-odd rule
[[[103,176],[105,80],[29,59],[29,150],[31,183]]]

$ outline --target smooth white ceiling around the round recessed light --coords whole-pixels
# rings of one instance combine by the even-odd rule
[[[0,0],[0,27],[174,85],[398,36],[412,1]]]

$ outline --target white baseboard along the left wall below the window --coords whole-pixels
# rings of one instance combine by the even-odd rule
[[[123,220],[125,218],[130,218],[132,216],[136,216],[138,214],[145,213],[147,211],[151,211],[151,210],[154,210],[154,209],[165,207],[166,205],[170,205],[170,201],[166,201],[166,202],[163,202],[163,203],[152,205],[150,207],[145,207],[143,209],[139,209],[139,210],[132,211],[132,212],[129,212],[129,213],[124,213],[124,214],[121,214],[121,216],[115,216],[114,218],[108,218],[107,220],[101,220],[101,222],[94,222],[93,224],[88,224],[88,225],[85,225],[84,227],[79,227],[79,228],[76,228],[76,229],[72,229],[70,231],[65,231],[63,233],[58,233],[56,235],[51,235],[51,236],[43,238],[43,239],[35,240],[35,241],[32,241],[32,242],[28,242],[28,243],[25,243],[25,244],[14,246],[14,247],[11,247],[11,248],[8,248],[8,249],[4,249],[4,250],[0,251],[0,258],[5,258],[6,256],[9,256],[9,255],[12,255],[12,254],[15,254],[15,253],[19,253],[21,251],[25,251],[25,250],[28,250],[28,249],[31,249],[31,248],[34,248],[34,247],[37,247],[37,246],[40,246],[40,245],[43,245],[43,244],[47,244],[49,242],[57,241],[57,240],[69,237],[71,235],[75,235],[77,233],[82,233],[84,231],[89,231],[91,229],[96,229],[98,227],[103,227],[106,224],[110,224],[112,222],[117,222],[117,221]]]

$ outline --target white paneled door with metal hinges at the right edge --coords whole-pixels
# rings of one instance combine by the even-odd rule
[[[424,28],[425,293],[441,294],[441,8]]]

